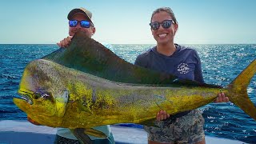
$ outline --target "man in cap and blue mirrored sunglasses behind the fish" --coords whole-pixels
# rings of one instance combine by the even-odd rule
[[[89,38],[92,37],[95,33],[94,23],[92,22],[92,13],[89,10],[84,8],[77,8],[70,11],[67,16],[69,20],[69,37],[64,38],[61,42],[58,42],[58,46],[60,47],[67,47],[71,42],[71,38],[74,34],[78,31],[84,32]],[[102,131],[108,138],[97,138],[91,135],[88,135],[90,140],[95,144],[107,144],[107,143],[114,143],[113,134],[110,131],[110,126],[97,126],[93,127],[95,130]],[[58,128],[55,142],[56,144],[62,143],[79,143],[78,139],[75,138],[74,134],[70,132],[70,129],[66,128]]]

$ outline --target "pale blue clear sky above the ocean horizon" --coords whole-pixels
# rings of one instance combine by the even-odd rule
[[[94,39],[111,44],[154,44],[150,17],[169,6],[179,44],[256,43],[254,0],[1,0],[0,44],[54,44],[68,36],[70,10],[93,13]]]

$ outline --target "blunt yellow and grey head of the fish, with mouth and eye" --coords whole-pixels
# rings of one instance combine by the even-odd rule
[[[58,122],[55,97],[62,89],[62,86],[53,86],[56,85],[58,77],[54,75],[54,70],[51,71],[52,66],[49,63],[41,59],[30,62],[19,84],[18,94],[21,98],[14,98],[16,106],[34,122],[42,125]]]

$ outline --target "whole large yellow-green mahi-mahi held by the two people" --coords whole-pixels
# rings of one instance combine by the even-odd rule
[[[14,103],[41,125],[77,132],[85,129],[87,134],[97,135],[91,127],[115,123],[154,126],[159,110],[168,114],[193,110],[213,102],[222,91],[256,120],[256,107],[247,95],[255,72],[256,59],[225,88],[178,79],[134,66],[78,33],[68,48],[26,66],[18,90],[22,98],[14,98]]]

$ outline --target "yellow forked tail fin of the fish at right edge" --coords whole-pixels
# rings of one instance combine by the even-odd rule
[[[247,94],[247,87],[255,73],[256,59],[254,59],[245,70],[242,70],[242,73],[239,74],[227,88],[230,102],[240,107],[246,114],[250,115],[251,118],[254,118],[254,120],[256,120],[256,107],[254,103],[250,101]]]

